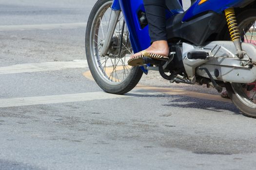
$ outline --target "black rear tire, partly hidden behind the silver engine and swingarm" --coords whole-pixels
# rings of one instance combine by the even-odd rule
[[[255,17],[256,18],[256,9],[246,9],[239,13],[236,17],[238,27],[240,30],[244,28],[246,25],[243,25],[243,21],[245,21],[247,18]],[[232,100],[232,102],[236,105],[236,107],[242,112],[244,116],[250,117],[250,118],[256,118],[256,108],[249,107],[248,105],[244,104],[238,94],[243,95],[241,89],[237,88],[238,84],[225,84],[226,90],[228,91],[229,97]],[[236,92],[234,91],[236,90]],[[237,93],[237,94],[236,94]],[[246,97],[245,97],[246,98]],[[248,99],[249,101],[249,99]],[[256,104],[255,104],[256,105]]]

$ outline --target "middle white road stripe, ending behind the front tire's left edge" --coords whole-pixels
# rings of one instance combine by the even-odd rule
[[[67,68],[87,68],[86,60],[74,60],[66,62],[45,62],[45,63],[29,63],[18,64],[7,67],[0,67],[0,74],[14,74],[25,72],[54,71]]]

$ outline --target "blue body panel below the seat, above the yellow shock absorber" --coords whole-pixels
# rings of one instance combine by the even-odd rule
[[[190,18],[207,11],[214,11],[216,13],[222,13],[225,9],[230,7],[238,7],[246,1],[250,0],[207,0],[199,5],[201,0],[197,0],[186,12],[183,18],[183,22]]]

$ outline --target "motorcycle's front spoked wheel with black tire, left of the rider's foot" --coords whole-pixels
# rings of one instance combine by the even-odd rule
[[[127,64],[133,49],[122,13],[106,55],[101,55],[114,11],[112,0],[98,0],[89,16],[85,35],[85,50],[90,71],[96,83],[106,92],[124,94],[139,82],[143,72]]]

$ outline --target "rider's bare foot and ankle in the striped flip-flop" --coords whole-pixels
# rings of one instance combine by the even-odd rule
[[[149,46],[149,48],[145,49],[145,51],[153,54],[168,56],[169,47],[168,43],[165,40],[155,41]],[[137,52],[131,56],[131,58],[141,55],[141,52]]]

